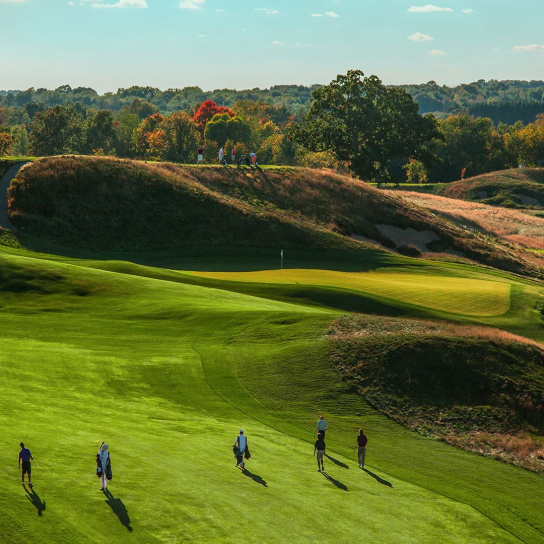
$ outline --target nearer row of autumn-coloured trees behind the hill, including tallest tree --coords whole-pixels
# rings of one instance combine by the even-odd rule
[[[45,107],[30,100],[1,107],[0,155],[93,154],[195,163],[203,145],[208,163],[217,162],[220,147],[226,156],[236,148],[238,155],[257,153],[261,164],[327,167],[399,182],[447,182],[544,160],[542,115],[513,124],[468,112],[421,115],[405,89],[358,70],[314,88],[304,114],[285,103],[250,98],[231,105],[204,100],[165,113],[146,100],[152,91],[118,110],[81,101]]]

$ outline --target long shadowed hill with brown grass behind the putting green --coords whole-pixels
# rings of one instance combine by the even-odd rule
[[[94,251],[174,246],[445,253],[541,277],[541,263],[357,180],[300,168],[51,157],[9,190],[23,237]]]

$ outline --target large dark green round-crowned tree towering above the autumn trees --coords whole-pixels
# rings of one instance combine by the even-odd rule
[[[436,121],[418,109],[404,90],[350,70],[313,92],[295,138],[310,151],[331,151],[362,178],[383,179],[391,160],[429,159],[428,143],[438,136]]]

